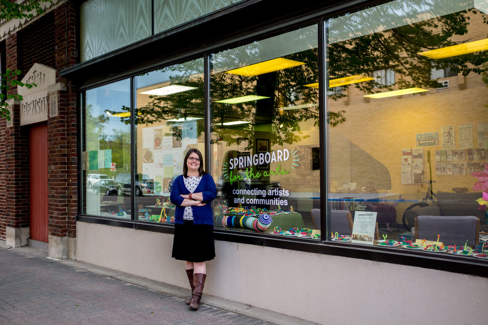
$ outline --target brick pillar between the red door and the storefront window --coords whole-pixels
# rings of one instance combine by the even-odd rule
[[[76,89],[59,71],[76,64],[75,5],[55,9],[56,81],[48,88],[49,256],[75,258],[78,212]]]

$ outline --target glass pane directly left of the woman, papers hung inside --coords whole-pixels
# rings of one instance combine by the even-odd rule
[[[136,219],[174,222],[169,191],[191,148],[204,153],[203,59],[135,78]]]

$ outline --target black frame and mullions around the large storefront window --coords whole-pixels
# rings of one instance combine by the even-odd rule
[[[92,89],[97,86],[102,86],[103,84],[116,82],[123,78],[131,77],[133,82],[134,76],[137,74],[148,72],[154,70],[159,67],[169,66],[171,64],[180,63],[183,61],[191,60],[195,57],[204,57],[204,65],[205,65],[205,115],[206,115],[206,122],[205,122],[205,150],[209,151],[209,130],[210,130],[210,121],[209,121],[209,103],[208,103],[208,95],[209,95],[209,67],[210,67],[210,59],[209,55],[215,53],[221,49],[233,48],[239,45],[243,45],[249,41],[253,41],[256,39],[263,39],[269,38],[275,35],[282,34],[286,31],[295,30],[299,27],[304,27],[313,23],[318,25],[319,30],[319,82],[321,84],[327,84],[327,74],[326,74],[326,17],[327,19],[331,17],[335,17],[339,14],[343,14],[346,12],[351,12],[359,9],[363,9],[367,6],[377,5],[381,3],[386,3],[389,1],[366,1],[366,0],[357,0],[357,1],[324,1],[320,4],[313,4],[309,5],[305,9],[295,11],[295,15],[291,15],[288,12],[285,12],[284,9],[278,9],[276,13],[274,13],[276,17],[273,19],[264,19],[261,17],[257,17],[255,20],[254,25],[249,26],[246,28],[240,27],[239,30],[233,30],[232,27],[229,28],[228,33],[225,35],[217,35],[214,38],[204,38],[208,41],[208,44],[201,45],[198,48],[192,47],[191,45],[185,49],[176,48],[173,52],[170,52],[166,56],[160,57],[148,57],[143,63],[140,65],[133,65],[129,64],[127,70],[121,71],[115,69],[115,75],[118,76],[117,79],[112,78],[114,74],[109,73],[110,68],[118,65],[117,62],[122,62],[126,60],[127,57],[130,57],[134,53],[141,51],[143,53],[144,49],[149,47],[157,46],[157,44],[161,44],[162,40],[166,40],[169,43],[175,38],[175,35],[178,37],[185,37],[195,32],[198,28],[205,30],[204,26],[213,26],[214,24],[218,25],[222,19],[229,19],[234,17],[233,15],[239,15],[246,12],[246,10],[251,10],[252,12],[257,12],[256,8],[259,7],[266,7],[269,5],[270,1],[268,0],[249,0],[243,1],[239,6],[234,6],[230,9],[232,10],[222,10],[214,15],[209,17],[204,17],[203,19],[197,19],[197,21],[193,21],[192,24],[185,24],[183,26],[178,26],[170,31],[160,33],[157,36],[145,39],[141,42],[136,44],[131,44],[126,46],[122,49],[117,51],[111,52],[110,54],[104,55],[102,57],[98,57],[96,59],[92,59],[81,64],[75,65],[74,67],[67,68],[61,71],[60,76],[67,76],[72,77],[76,80],[82,80],[80,82],[80,93],[82,94],[85,90]],[[299,4],[297,4],[298,6]],[[291,9],[287,9],[286,11],[292,12]],[[229,13],[230,12],[230,13]],[[238,17],[238,16],[235,16]],[[260,23],[261,22],[261,23]],[[266,25],[267,23],[267,25]],[[191,25],[191,26],[190,26]],[[225,32],[223,32],[225,33]],[[106,63],[109,64],[106,64]],[[106,67],[102,68],[102,66],[106,64]],[[108,70],[108,71],[107,71]],[[98,73],[97,73],[98,71]],[[88,75],[91,77],[85,77],[83,75]],[[97,77],[94,77],[97,76]],[[82,95],[80,96],[82,98]],[[133,102],[133,99],[131,100]],[[82,100],[81,100],[82,102]],[[132,108],[133,110],[133,108]],[[324,91],[321,90],[319,92],[319,128],[320,132],[320,140],[319,140],[319,155],[320,155],[320,171],[321,171],[321,197],[327,196],[327,171],[326,171],[326,143],[327,143],[327,127],[326,127],[326,95]],[[81,110],[79,110],[81,111]],[[81,113],[79,113],[81,114]],[[132,116],[134,116],[132,114]],[[80,115],[79,115],[80,117]],[[132,127],[134,127],[134,121],[132,120]],[[79,129],[80,130],[80,129]],[[134,131],[134,129],[132,130]],[[81,132],[81,131],[79,131]],[[134,136],[132,132],[132,136]],[[82,138],[82,135],[79,134],[79,139]],[[134,139],[132,139],[134,140]],[[79,140],[81,141],[81,140]],[[134,143],[134,142],[132,142]],[[81,147],[81,142],[79,143],[79,148]],[[80,150],[79,150],[79,154]],[[132,153],[132,157],[134,157],[134,153]],[[207,160],[209,160],[209,153],[206,154]],[[135,162],[132,159],[131,163],[131,174],[134,174],[133,165]],[[205,161],[207,166],[209,166],[209,161]],[[81,165],[79,166],[79,171],[81,171]],[[132,182],[134,186],[134,182]],[[81,200],[79,201],[81,204]],[[131,202],[134,204],[134,191],[131,191]],[[79,207],[80,208],[80,207]],[[79,209],[81,211],[81,209]],[[327,200],[321,200],[321,210],[323,211],[321,214],[321,227],[322,233],[325,233],[326,229],[326,213],[325,211],[328,210]],[[95,224],[103,224],[103,225],[110,225],[115,227],[123,227],[123,228],[131,228],[131,229],[141,229],[141,230],[148,230],[154,232],[161,232],[161,233],[174,233],[173,226],[168,225],[158,225],[158,224],[151,224],[147,222],[141,222],[137,220],[120,220],[116,218],[109,218],[109,217],[101,217],[101,216],[93,216],[93,215],[86,215],[86,214],[79,214],[77,216],[78,221],[88,222],[88,223],[95,223]],[[428,252],[423,251],[405,251],[405,250],[393,250],[393,249],[385,249],[380,247],[369,247],[369,246],[362,246],[362,245],[343,245],[341,243],[334,243],[330,241],[321,240],[314,241],[309,239],[300,239],[300,238],[284,238],[284,237],[276,237],[276,236],[269,236],[264,234],[251,234],[251,233],[243,233],[236,230],[215,230],[215,239],[221,241],[228,241],[228,242],[235,242],[235,243],[242,243],[242,244],[249,244],[249,245],[257,245],[269,248],[279,248],[279,249],[291,249],[309,253],[317,253],[317,254],[325,254],[325,255],[335,255],[335,256],[342,256],[342,257],[349,257],[349,258],[357,258],[357,259],[365,259],[370,261],[376,262],[384,262],[384,263],[393,263],[398,265],[405,265],[405,266],[413,266],[413,267],[421,267],[421,268],[430,268],[436,270],[445,270],[449,272],[455,273],[463,273],[463,274],[470,274],[476,275],[481,277],[488,277],[488,263],[483,263],[477,260],[468,260],[463,257],[458,256],[446,256],[443,255],[435,255]]]

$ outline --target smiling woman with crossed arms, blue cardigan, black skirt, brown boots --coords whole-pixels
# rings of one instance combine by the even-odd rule
[[[172,257],[185,261],[192,289],[186,305],[193,310],[198,310],[202,298],[207,273],[205,261],[215,257],[210,202],[216,195],[212,176],[203,171],[202,153],[190,149],[184,157],[183,175],[178,176],[171,186],[170,200],[176,205]]]

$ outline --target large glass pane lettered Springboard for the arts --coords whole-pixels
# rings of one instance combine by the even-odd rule
[[[310,238],[319,227],[317,53],[310,26],[212,55],[216,228]]]

